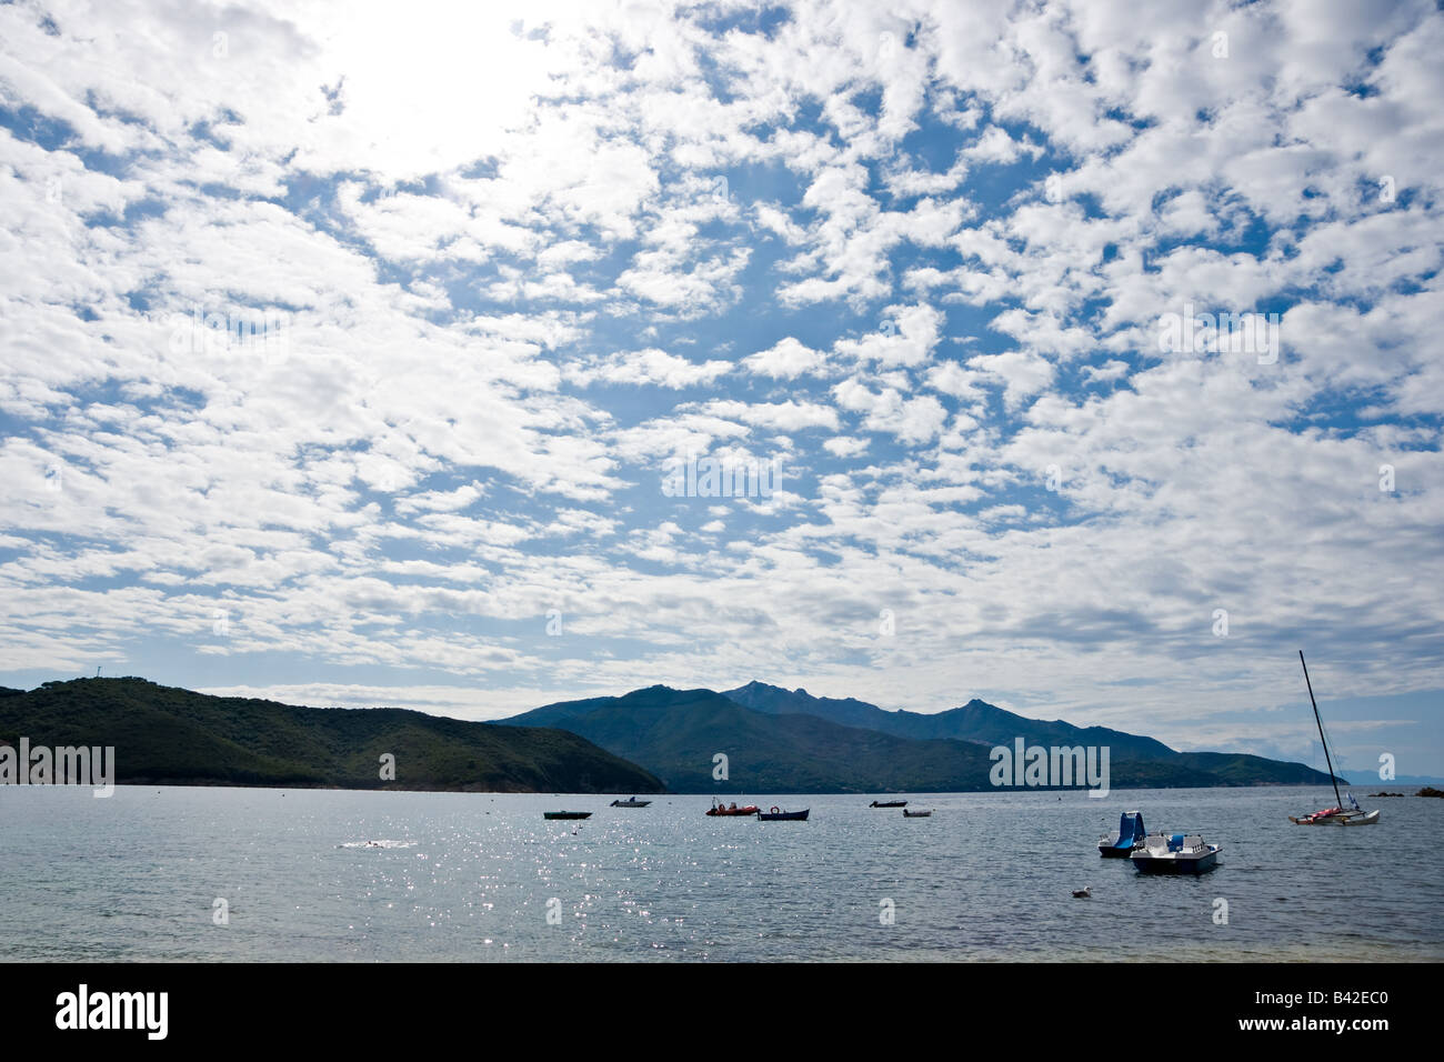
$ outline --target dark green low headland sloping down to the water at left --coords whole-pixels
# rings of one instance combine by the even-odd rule
[[[475,792],[656,793],[656,776],[565,731],[400,708],[299,708],[139,678],[0,696],[0,743],[114,746],[117,782]],[[380,757],[396,757],[396,779]]]

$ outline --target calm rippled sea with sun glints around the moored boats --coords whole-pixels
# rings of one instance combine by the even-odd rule
[[[757,799],[812,821],[709,819],[705,796],[0,786],[0,958],[1444,958],[1444,800],[1366,799],[1376,826],[1304,829],[1285,815],[1324,806],[1314,787],[913,798],[930,819]],[[542,819],[563,808],[595,815]],[[1100,860],[1132,808],[1222,844],[1219,868]]]

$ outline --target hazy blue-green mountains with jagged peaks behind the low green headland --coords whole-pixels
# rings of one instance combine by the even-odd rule
[[[1018,738],[1048,748],[1109,748],[1112,787],[1328,785],[1328,774],[1301,763],[1180,753],[1151,737],[1030,720],[978,699],[924,715],[762,682],[723,694],[648,686],[501,722],[580,734],[644,764],[679,793],[988,790],[995,787],[991,748]],[[726,777],[718,777],[722,764]]]

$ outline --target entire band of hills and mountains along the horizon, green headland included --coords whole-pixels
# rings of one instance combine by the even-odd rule
[[[1151,737],[1031,720],[979,699],[926,715],[762,682],[648,686],[498,722],[401,708],[302,708],[140,678],[0,688],[0,744],[114,746],[118,783],[570,793],[892,793],[993,789],[995,746],[1109,750],[1109,787],[1328,785],[1300,763],[1180,753]],[[381,777],[380,757],[394,757]],[[1019,779],[1021,782],[1021,779]]]

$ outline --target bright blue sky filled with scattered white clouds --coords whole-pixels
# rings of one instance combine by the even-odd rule
[[[758,679],[1323,766],[1302,649],[1344,767],[1444,774],[1441,52],[1432,3],[0,6],[0,685]]]

